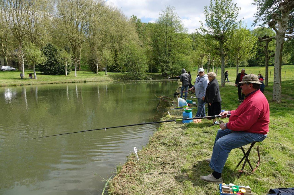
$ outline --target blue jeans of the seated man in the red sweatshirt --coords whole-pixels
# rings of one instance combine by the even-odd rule
[[[263,141],[266,137],[267,135],[263,134],[218,129],[209,164],[210,168],[221,173],[232,149],[240,148],[255,141]]]

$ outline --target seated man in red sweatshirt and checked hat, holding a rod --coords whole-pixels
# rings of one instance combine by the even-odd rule
[[[220,124],[216,135],[211,159],[206,159],[213,170],[210,175],[200,179],[210,183],[223,183],[221,172],[230,151],[252,142],[263,141],[268,132],[270,108],[268,100],[259,90],[260,82],[257,75],[245,75],[240,82],[245,100],[236,110],[224,111],[220,115],[227,117],[228,123]]]

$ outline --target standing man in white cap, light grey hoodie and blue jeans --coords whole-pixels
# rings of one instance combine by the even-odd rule
[[[189,91],[192,91],[195,89],[195,95],[198,99],[198,109],[197,114],[195,117],[204,117],[205,116],[205,91],[207,88],[207,85],[209,83],[208,76],[205,74],[204,69],[200,68],[198,69],[199,76],[196,78],[195,85],[189,89]],[[201,122],[201,119],[197,119],[194,121],[195,123]]]

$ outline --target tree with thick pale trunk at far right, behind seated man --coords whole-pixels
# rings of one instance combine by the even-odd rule
[[[273,82],[273,100],[281,102],[282,56],[285,38],[293,37],[294,29],[294,1],[293,0],[254,0],[258,11],[255,13],[255,24],[262,21],[275,31],[275,36],[265,40],[275,39],[275,66]]]

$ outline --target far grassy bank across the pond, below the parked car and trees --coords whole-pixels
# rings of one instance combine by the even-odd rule
[[[53,83],[78,83],[93,81],[114,81],[125,80],[126,75],[122,73],[105,72],[92,73],[89,71],[77,71],[77,77],[74,77],[74,71],[69,75],[45,75],[37,72],[37,79],[29,79],[29,73],[33,70],[25,70],[25,78],[20,79],[20,71],[0,71],[0,86],[34,85],[34,84],[53,84]],[[33,76],[34,77],[34,76]],[[161,73],[148,73],[147,78],[162,79]]]

